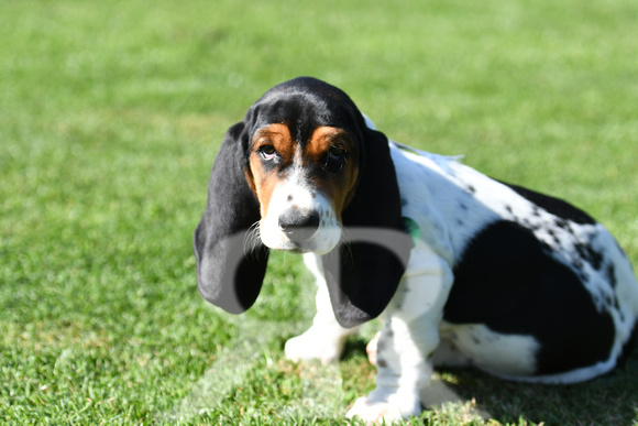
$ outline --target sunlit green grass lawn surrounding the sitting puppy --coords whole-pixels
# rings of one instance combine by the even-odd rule
[[[393,139],[570,199],[638,264],[637,15],[634,0],[0,0],[0,423],[342,424],[374,370],[363,338],[338,365],[283,359],[312,306],[298,259],[274,256],[231,317],[199,297],[190,247],[223,132],[298,75]],[[427,424],[638,418],[638,354],[575,386],[437,380],[460,402]]]

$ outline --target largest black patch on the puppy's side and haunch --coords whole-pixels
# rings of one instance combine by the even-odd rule
[[[539,343],[536,374],[557,374],[607,360],[614,320],[600,313],[579,275],[548,245],[507,220],[487,226],[454,266],[443,318],[484,324]]]

